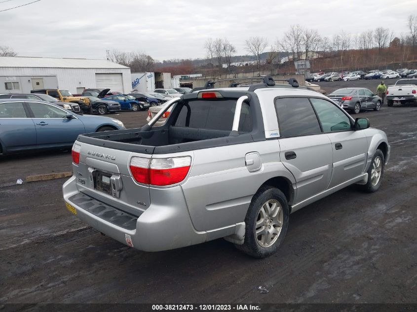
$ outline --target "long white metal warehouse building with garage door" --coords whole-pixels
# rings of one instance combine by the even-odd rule
[[[107,60],[0,57],[0,93],[30,93],[34,89],[84,88],[128,93],[130,68]]]

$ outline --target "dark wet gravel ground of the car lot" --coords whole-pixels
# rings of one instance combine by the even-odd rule
[[[329,92],[378,84],[320,83]],[[27,175],[71,171],[69,151],[0,159],[0,303],[417,303],[417,108],[385,104],[356,116],[391,143],[380,190],[350,186],[291,214],[279,252],[263,260],[224,240],[130,249],[67,211],[65,179],[15,185]],[[114,117],[133,128],[147,112]]]

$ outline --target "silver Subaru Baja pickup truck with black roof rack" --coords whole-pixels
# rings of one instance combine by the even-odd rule
[[[266,257],[290,213],[353,183],[378,190],[390,155],[384,132],[295,79],[257,79],[229,88],[209,81],[140,129],[78,136],[67,208],[144,251],[225,238]]]

